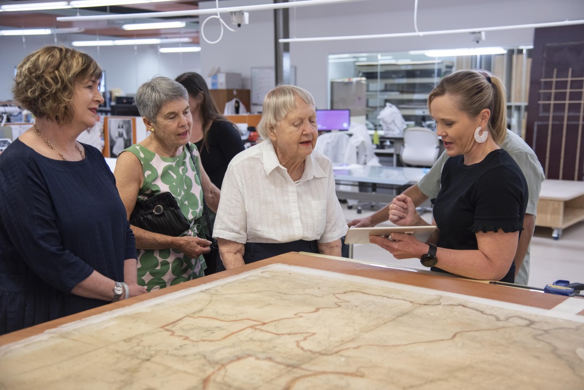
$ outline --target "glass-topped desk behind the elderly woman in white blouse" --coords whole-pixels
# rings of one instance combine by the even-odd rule
[[[378,189],[391,189],[401,192],[412,184],[418,183],[428,172],[428,168],[411,168],[404,166],[363,166],[360,169],[340,169],[334,167],[336,196],[339,199],[358,201],[388,202],[387,193],[377,193]],[[351,191],[351,187],[363,187],[369,183],[371,192]]]

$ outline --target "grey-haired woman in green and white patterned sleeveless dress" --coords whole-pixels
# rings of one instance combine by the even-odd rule
[[[128,219],[137,202],[170,192],[190,222],[179,236],[131,225],[138,252],[138,284],[151,291],[204,276],[203,253],[210,251],[211,242],[197,237],[203,236],[199,222],[204,218],[203,193],[214,211],[220,193],[203,169],[197,148],[189,143],[192,116],[186,89],[158,76],[138,88],[136,105],[150,134],[120,153],[114,171]]]

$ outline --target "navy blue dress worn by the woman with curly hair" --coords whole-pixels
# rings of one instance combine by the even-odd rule
[[[135,239],[98,149],[82,161],[20,140],[0,155],[0,335],[107,304],[71,294],[93,270],[123,281]]]

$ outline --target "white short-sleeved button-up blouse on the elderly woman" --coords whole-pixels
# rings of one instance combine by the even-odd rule
[[[263,141],[230,162],[213,236],[239,243],[297,240],[332,242],[347,232],[335,193],[332,163],[313,151],[293,182],[272,142]]]

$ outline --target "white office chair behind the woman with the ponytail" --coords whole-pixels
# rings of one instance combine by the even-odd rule
[[[425,127],[410,127],[404,131],[404,145],[399,159],[404,166],[430,168],[438,159],[440,141],[438,135]],[[416,207],[420,215],[432,213],[432,207]]]

